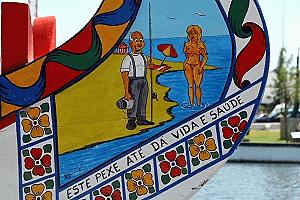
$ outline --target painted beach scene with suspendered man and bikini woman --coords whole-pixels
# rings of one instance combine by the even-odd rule
[[[194,6],[190,7],[191,4]],[[199,16],[199,13],[194,13],[195,11],[206,14]],[[191,26],[196,22],[199,25]],[[195,41],[195,45],[200,46],[198,50],[193,50],[201,51],[197,54],[198,58],[194,58],[193,53],[187,53],[189,51],[187,49],[192,48],[189,47],[191,43],[189,29],[191,32],[201,32]],[[154,65],[152,66],[154,69],[148,70],[143,76],[148,82],[148,87],[147,83],[143,83],[144,74],[141,74],[140,80],[138,77],[134,80],[129,72],[130,81],[136,82],[131,83],[132,87],[138,84],[146,85],[137,91],[141,98],[138,100],[145,102],[144,108],[136,104],[135,106],[139,108],[133,111],[143,112],[143,116],[138,116],[138,113],[126,114],[131,110],[120,110],[116,107],[116,101],[122,96],[126,98],[127,95],[124,91],[122,70],[126,70],[123,68],[126,68],[124,65],[128,60],[132,63],[130,55],[135,54],[133,53],[135,47],[131,46],[134,42],[133,34],[137,39],[143,39],[141,53],[147,63],[151,59]],[[59,136],[59,150],[62,154],[60,159],[74,161],[74,157],[80,157],[78,164],[73,163],[73,170],[70,170],[69,165],[62,164],[61,172],[78,175],[84,173],[78,172],[78,168],[91,154],[99,155],[99,159],[91,163],[91,168],[85,170],[92,169],[92,165],[105,163],[110,158],[219,101],[225,86],[228,87],[229,84],[227,79],[233,56],[232,42],[226,21],[215,1],[206,2],[205,6],[192,1],[178,0],[172,4],[167,1],[143,1],[133,26],[116,52],[93,74],[56,97],[58,131],[63,133]],[[127,53],[120,53],[119,49],[124,47],[127,47]],[[193,62],[195,63],[187,64]],[[95,94],[94,91],[101,92]],[[151,100],[151,96],[156,98]],[[88,99],[85,101],[86,104],[82,103],[83,98]],[[69,105],[73,109],[69,109]],[[90,105],[93,105],[93,108],[87,111]],[[153,125],[151,123],[146,126],[138,125],[139,117],[153,122]],[[131,118],[136,120],[132,127],[128,127]],[[83,121],[89,123],[82,123]],[[83,134],[89,137],[84,137]],[[79,149],[80,151],[76,151]],[[68,182],[64,178],[62,180],[62,184]]]

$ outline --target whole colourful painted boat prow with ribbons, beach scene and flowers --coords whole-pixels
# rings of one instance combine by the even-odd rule
[[[17,196],[188,199],[248,131],[268,62],[256,1],[103,1],[70,41],[0,77]]]

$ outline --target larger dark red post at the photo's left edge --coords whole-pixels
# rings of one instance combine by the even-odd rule
[[[27,4],[1,4],[1,74],[21,68],[33,60],[33,36]]]

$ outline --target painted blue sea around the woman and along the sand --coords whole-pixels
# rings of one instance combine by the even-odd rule
[[[172,125],[176,125],[188,116],[209,107],[220,99],[231,66],[231,38],[230,36],[207,36],[204,37],[203,40],[206,44],[209,57],[207,64],[217,66],[220,69],[206,70],[204,72],[204,79],[202,83],[202,105],[194,107],[188,106],[188,86],[183,71],[167,72],[160,75],[157,80],[158,83],[170,88],[168,98],[178,103],[178,105],[171,110],[174,119],[164,123],[160,127],[152,128],[139,135],[118,139],[87,149],[60,155],[59,171],[61,185],[67,184],[80,175],[85,174],[97,166],[109,161],[122,152],[131,149],[160,131],[171,127]],[[183,53],[183,46],[185,42],[187,42],[186,38],[154,39],[153,56],[157,59],[163,59],[164,56],[156,49],[156,46],[158,44],[173,44],[179,56],[178,58],[171,58],[167,60],[183,62],[185,60],[185,55]],[[146,40],[146,47],[147,46],[149,46],[149,41]],[[144,53],[149,55],[149,49],[145,49]],[[84,165],[82,163],[84,163]]]

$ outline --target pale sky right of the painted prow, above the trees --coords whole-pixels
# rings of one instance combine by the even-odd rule
[[[287,55],[293,55],[291,65],[296,66],[296,57],[300,48],[300,1],[259,0],[259,4],[268,26],[271,69],[277,65],[279,51],[283,45],[287,49]],[[284,19],[284,23],[282,19]]]

